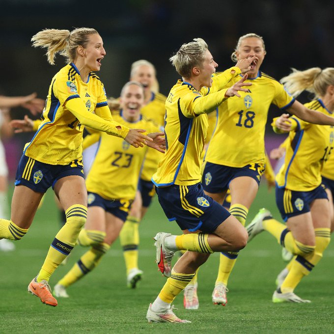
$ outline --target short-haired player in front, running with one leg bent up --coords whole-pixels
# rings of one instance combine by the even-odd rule
[[[214,251],[236,251],[247,243],[245,228],[227,210],[203,193],[200,185],[201,154],[208,127],[207,113],[230,96],[246,91],[247,75],[230,88],[225,85],[251,69],[255,56],[240,60],[214,78],[218,64],[201,38],[183,44],[170,58],[181,75],[166,101],[166,153],[153,175],[159,202],[169,221],[176,221],[181,236],[159,232],[155,236],[157,264],[168,277],[159,296],[147,310],[149,322],[189,322],[172,310],[174,298],[192,280],[197,268]],[[191,233],[200,232],[201,233]],[[187,250],[171,270],[174,251]]]

